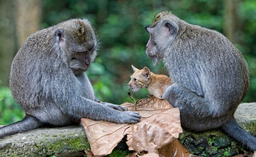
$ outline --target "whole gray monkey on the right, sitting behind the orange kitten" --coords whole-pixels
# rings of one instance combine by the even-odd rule
[[[180,109],[182,127],[221,128],[256,150],[256,138],[234,119],[249,88],[247,63],[237,48],[219,32],[188,24],[171,12],[158,13],[146,30],[146,53],[154,63],[162,60],[173,80],[162,97]]]

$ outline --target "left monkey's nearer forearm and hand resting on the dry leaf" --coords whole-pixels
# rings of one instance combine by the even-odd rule
[[[83,97],[76,97],[70,104],[63,107],[62,110],[76,119],[84,117],[115,123],[137,123],[141,117],[138,112],[118,111]]]

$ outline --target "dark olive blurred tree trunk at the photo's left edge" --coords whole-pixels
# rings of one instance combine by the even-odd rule
[[[0,85],[9,85],[11,62],[17,50],[15,36],[15,1],[0,1]]]

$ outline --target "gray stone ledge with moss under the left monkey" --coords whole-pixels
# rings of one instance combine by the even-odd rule
[[[89,148],[82,126],[41,128],[0,139],[0,157],[79,157]]]

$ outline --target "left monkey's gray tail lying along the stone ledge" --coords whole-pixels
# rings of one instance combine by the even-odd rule
[[[8,135],[16,134],[19,132],[27,132],[29,130],[37,129],[42,125],[43,123],[41,123],[35,117],[26,115],[22,119],[22,121],[18,121],[16,123],[0,127],[0,138]]]

